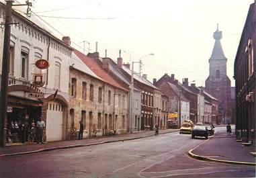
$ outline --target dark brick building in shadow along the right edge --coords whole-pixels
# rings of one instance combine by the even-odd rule
[[[256,5],[249,7],[243,33],[234,60],[236,83],[237,138],[255,145],[256,120]]]

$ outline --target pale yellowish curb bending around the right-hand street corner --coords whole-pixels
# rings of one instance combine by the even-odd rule
[[[208,140],[205,140],[204,142],[206,142]],[[198,144],[198,146],[204,144],[204,142],[202,142],[201,144]],[[191,157],[193,159],[198,159],[200,161],[214,161],[214,162],[218,162],[218,163],[228,163],[228,164],[232,164],[232,165],[249,165],[249,166],[255,166],[256,165],[256,163],[243,162],[243,161],[228,161],[228,160],[221,160],[221,159],[211,159],[209,157],[204,157],[204,156],[200,156],[198,154],[194,154],[192,151],[196,150],[196,148],[198,148],[198,146],[196,146],[195,148],[193,148],[193,149],[189,150],[189,152],[187,152],[189,157]]]

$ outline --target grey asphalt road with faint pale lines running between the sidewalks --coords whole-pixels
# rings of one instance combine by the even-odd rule
[[[216,128],[216,132],[224,128]],[[0,159],[0,177],[254,177],[255,167],[198,161],[204,142],[189,134],[159,136]]]

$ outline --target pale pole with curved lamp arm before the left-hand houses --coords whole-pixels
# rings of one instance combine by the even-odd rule
[[[141,56],[138,61],[134,62],[132,61],[132,75],[131,75],[131,89],[130,89],[130,101],[131,101],[131,107],[130,107],[130,122],[128,123],[129,124],[129,133],[132,133],[132,128],[133,128],[133,119],[134,119],[134,116],[133,116],[133,95],[134,95],[134,79],[133,79],[133,75],[135,74],[134,73],[134,63],[140,63],[141,65],[141,59],[146,57],[146,56],[153,56],[154,54],[153,53],[150,53],[150,54],[146,54],[144,56]]]

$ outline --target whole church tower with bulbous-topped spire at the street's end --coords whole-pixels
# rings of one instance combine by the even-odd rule
[[[219,101],[218,105],[218,122],[230,122],[230,79],[226,75],[226,57],[222,50],[220,39],[222,32],[217,30],[214,32],[215,39],[212,55],[209,59],[209,76],[206,79],[206,92],[210,93]]]

